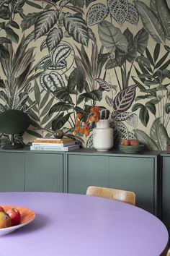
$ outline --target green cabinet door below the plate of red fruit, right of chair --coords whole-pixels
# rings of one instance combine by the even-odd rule
[[[109,187],[135,192],[136,205],[156,214],[156,169],[154,158],[133,156],[109,158]]]

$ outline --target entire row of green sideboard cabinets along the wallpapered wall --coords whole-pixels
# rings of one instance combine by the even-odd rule
[[[161,218],[170,231],[170,155],[119,150],[71,152],[0,150],[0,192],[85,194],[90,185],[135,192],[137,206]]]

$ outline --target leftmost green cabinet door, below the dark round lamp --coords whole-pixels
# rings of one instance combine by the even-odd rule
[[[24,154],[0,153],[0,191],[24,191]]]

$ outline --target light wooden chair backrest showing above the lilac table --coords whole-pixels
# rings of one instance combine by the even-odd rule
[[[90,186],[86,190],[86,195],[105,197],[135,205],[135,193],[132,191]]]

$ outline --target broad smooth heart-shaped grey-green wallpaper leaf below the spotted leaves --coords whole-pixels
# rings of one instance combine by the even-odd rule
[[[100,22],[98,24],[98,33],[102,45],[107,48],[110,54],[114,54],[117,48],[127,53],[128,41],[125,35],[122,35],[121,30],[112,25],[112,23],[107,21]]]

